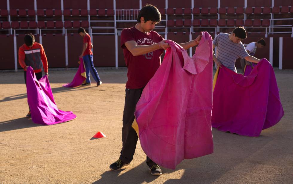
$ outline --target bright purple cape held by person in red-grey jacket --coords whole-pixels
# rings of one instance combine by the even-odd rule
[[[58,110],[48,76],[45,75],[38,81],[32,67],[28,67],[26,82],[28,105],[34,123],[54,125],[76,118],[76,115],[71,111]]]

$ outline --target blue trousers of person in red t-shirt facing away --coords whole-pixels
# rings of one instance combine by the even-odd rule
[[[93,61],[93,55],[85,55],[83,56],[83,62],[86,67],[86,83],[90,83],[91,79],[89,78],[89,72],[91,72],[91,76],[94,77],[94,80],[96,82],[100,82],[101,79],[99,77],[99,74],[94,67],[94,61]]]

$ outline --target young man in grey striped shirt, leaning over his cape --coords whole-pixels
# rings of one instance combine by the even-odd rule
[[[217,56],[213,52],[213,60],[217,67],[224,65],[237,73],[235,67],[235,60],[237,58],[244,58],[252,63],[258,63],[260,61],[246,52],[243,43],[241,43],[245,38],[246,31],[243,27],[235,28],[231,34],[220,33],[215,37],[213,40],[213,49],[217,46]]]

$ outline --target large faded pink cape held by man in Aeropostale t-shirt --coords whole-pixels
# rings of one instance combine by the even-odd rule
[[[167,43],[170,48],[144,88],[135,117],[146,155],[175,169],[183,159],[213,153],[212,38],[202,32],[192,58],[177,43]]]

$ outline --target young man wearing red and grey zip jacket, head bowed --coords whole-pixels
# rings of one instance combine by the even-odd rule
[[[35,72],[36,79],[42,78],[42,68],[47,76],[48,74],[48,61],[42,44],[35,42],[33,34],[25,35],[25,44],[19,47],[18,62],[25,71],[25,84],[26,84],[26,70],[30,66]],[[26,117],[31,117],[30,111]]]

